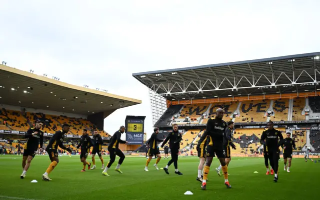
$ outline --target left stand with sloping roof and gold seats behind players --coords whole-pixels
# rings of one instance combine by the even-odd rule
[[[103,131],[104,118],[117,109],[141,103],[137,99],[71,85],[1,64],[0,80],[0,153],[14,154],[19,144],[23,152],[24,134],[36,120],[44,123],[44,148],[52,134],[67,123],[71,127],[63,144],[72,148],[74,154],[79,152],[75,147],[82,128],[89,132],[97,129],[103,137],[105,151],[109,134]],[[130,145],[122,149],[126,147]],[[59,152],[64,151],[60,149]]]

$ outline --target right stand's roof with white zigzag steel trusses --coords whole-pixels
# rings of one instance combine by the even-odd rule
[[[320,52],[134,73],[168,99],[316,91]]]

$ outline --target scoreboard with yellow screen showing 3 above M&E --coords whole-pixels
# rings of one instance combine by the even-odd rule
[[[125,118],[125,141],[129,145],[143,144],[145,116],[126,116]]]

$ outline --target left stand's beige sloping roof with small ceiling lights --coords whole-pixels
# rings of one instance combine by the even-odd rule
[[[140,103],[0,64],[0,104],[91,115]]]

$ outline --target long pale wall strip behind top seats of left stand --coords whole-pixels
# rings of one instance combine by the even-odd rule
[[[6,110],[13,110],[13,111],[19,111],[22,112],[23,107],[18,107],[18,106],[10,106],[10,105],[5,105],[5,104],[0,104],[0,109],[5,108]],[[62,113],[62,112],[56,112],[56,111],[50,111],[50,110],[41,110],[41,109],[33,109],[33,108],[25,108],[25,112],[29,113],[44,113],[47,115],[55,115],[55,116],[67,116],[70,118],[82,118],[86,119],[86,115],[77,115],[74,113]],[[103,129],[102,129],[103,130]]]

